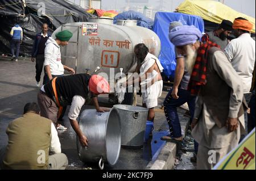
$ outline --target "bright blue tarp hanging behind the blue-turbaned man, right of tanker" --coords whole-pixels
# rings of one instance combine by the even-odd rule
[[[169,25],[174,21],[183,25],[193,25],[199,28],[202,33],[204,32],[204,21],[199,16],[179,12],[156,12],[153,31],[161,41],[159,60],[164,68],[164,75],[168,78],[174,78],[176,68],[175,48],[168,37]]]

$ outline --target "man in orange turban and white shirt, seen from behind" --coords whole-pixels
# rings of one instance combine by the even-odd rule
[[[233,34],[237,38],[230,41],[225,48],[228,60],[242,79],[243,94],[247,103],[251,97],[250,89],[255,65],[255,40],[250,36],[252,28],[253,24],[245,18],[236,18],[233,23]],[[245,112],[245,129],[247,134],[247,112]],[[242,136],[244,137],[245,135]]]

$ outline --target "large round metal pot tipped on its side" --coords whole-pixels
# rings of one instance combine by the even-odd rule
[[[115,165],[121,148],[121,123],[117,110],[84,110],[80,116],[79,127],[88,138],[88,147],[81,146],[77,138],[77,151],[81,161],[98,162],[100,169],[103,169],[104,162],[110,166]]]

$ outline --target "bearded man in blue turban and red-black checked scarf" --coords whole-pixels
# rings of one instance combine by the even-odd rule
[[[170,41],[183,54],[191,74],[188,91],[197,95],[191,124],[192,136],[199,143],[197,169],[212,169],[238,145],[244,129],[242,81],[220,47],[201,43],[195,26],[171,30]]]

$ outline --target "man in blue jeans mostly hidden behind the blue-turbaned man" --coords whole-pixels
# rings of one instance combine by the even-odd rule
[[[170,23],[169,32],[172,28],[183,26],[180,22]],[[177,107],[188,103],[189,113],[191,115],[191,121],[193,119],[193,114],[195,110],[195,100],[196,96],[192,96],[189,91],[187,91],[188,82],[190,79],[190,74],[185,70],[185,57],[182,54],[177,53],[175,48],[176,56],[176,69],[174,76],[174,86],[168,92],[166,98],[164,99],[164,114],[166,115],[167,123],[170,129],[170,135],[163,136],[161,140],[181,142],[183,140],[181,134],[181,126],[179,121],[179,116],[177,115]],[[191,158],[191,161],[196,161],[198,145],[195,142],[195,154]]]

